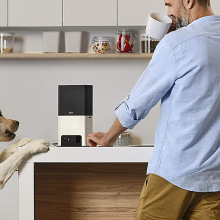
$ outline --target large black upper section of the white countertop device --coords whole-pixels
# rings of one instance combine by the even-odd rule
[[[58,87],[58,115],[92,116],[93,87],[62,85]]]

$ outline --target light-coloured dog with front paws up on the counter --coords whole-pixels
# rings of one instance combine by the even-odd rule
[[[0,142],[12,141],[18,127],[18,121],[5,118],[0,110]],[[32,141],[29,138],[22,138],[4,149],[0,153],[0,189],[4,188],[5,183],[25,158],[35,153],[46,152],[49,146],[50,142],[43,139]]]

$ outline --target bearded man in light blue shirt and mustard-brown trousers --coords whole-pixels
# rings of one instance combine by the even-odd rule
[[[158,44],[107,133],[88,144],[112,146],[161,99],[155,148],[136,220],[220,219],[220,16],[209,0],[165,0],[180,28]]]

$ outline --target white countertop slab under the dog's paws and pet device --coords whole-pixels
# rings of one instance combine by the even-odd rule
[[[143,163],[154,147],[54,147],[35,154],[24,163]]]

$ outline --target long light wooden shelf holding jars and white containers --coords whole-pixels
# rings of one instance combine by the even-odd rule
[[[10,53],[0,54],[0,60],[74,60],[74,59],[151,59],[150,53],[109,53],[109,54],[95,54],[95,53]]]

